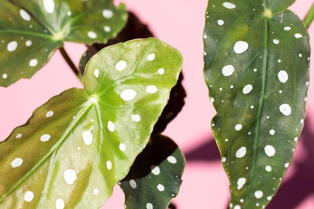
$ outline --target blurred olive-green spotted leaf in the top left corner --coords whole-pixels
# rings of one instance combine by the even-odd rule
[[[126,19],[112,0],[2,0],[0,86],[31,78],[65,41],[106,43]]]

